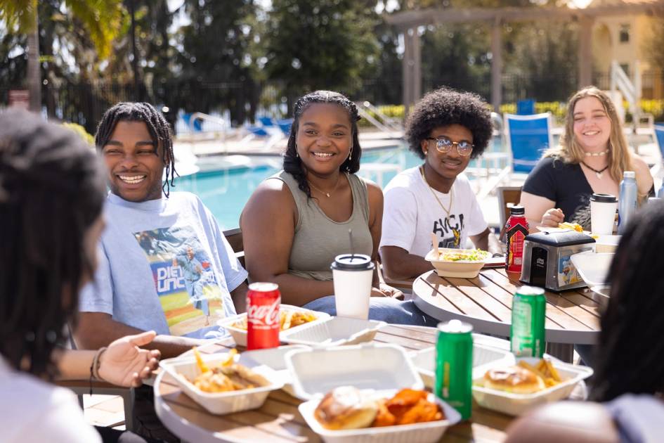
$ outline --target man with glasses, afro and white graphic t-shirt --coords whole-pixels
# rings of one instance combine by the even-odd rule
[[[463,173],[491,141],[488,105],[469,92],[436,89],[415,105],[405,131],[408,148],[424,163],[385,187],[380,255],[386,276],[400,280],[431,271],[424,257],[432,248],[465,249],[468,239],[475,248],[502,252]]]

